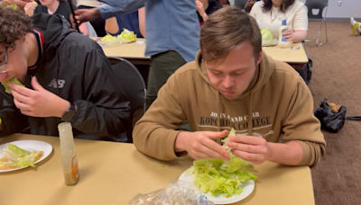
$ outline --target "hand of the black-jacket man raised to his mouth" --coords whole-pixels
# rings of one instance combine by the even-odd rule
[[[32,77],[32,88],[11,83],[11,92],[14,96],[15,106],[24,115],[32,117],[59,117],[69,109],[70,103],[56,94],[45,90],[38,83],[36,77]]]

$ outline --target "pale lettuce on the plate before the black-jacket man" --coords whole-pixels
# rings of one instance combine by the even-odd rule
[[[0,170],[13,169],[24,166],[35,167],[34,163],[43,156],[43,151],[27,151],[12,144],[3,148],[5,156],[0,158]]]

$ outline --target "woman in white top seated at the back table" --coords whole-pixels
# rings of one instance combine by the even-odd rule
[[[288,41],[301,42],[307,36],[307,13],[307,7],[299,0],[263,0],[256,2],[249,14],[261,29],[268,29],[277,39],[282,19],[287,18],[290,29],[285,31],[285,37]]]

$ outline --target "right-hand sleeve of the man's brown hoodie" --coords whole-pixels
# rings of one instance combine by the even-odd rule
[[[298,142],[303,150],[299,165],[315,166],[326,154],[326,141],[319,120],[313,114],[313,99],[301,77],[283,122],[282,142]]]

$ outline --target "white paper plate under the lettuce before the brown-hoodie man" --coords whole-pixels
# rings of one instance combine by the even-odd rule
[[[186,182],[193,182],[193,174],[190,176],[186,176],[186,170],[184,173],[180,174],[179,180],[186,181]],[[232,197],[224,197],[223,194],[218,194],[216,197],[209,195],[205,193],[207,196],[208,201],[212,201],[215,204],[230,204],[230,203],[236,203],[237,201],[244,200],[249,194],[251,194],[255,189],[255,181],[253,180],[246,180],[245,183],[243,183],[241,186],[241,189],[243,192],[239,195],[232,196]]]

